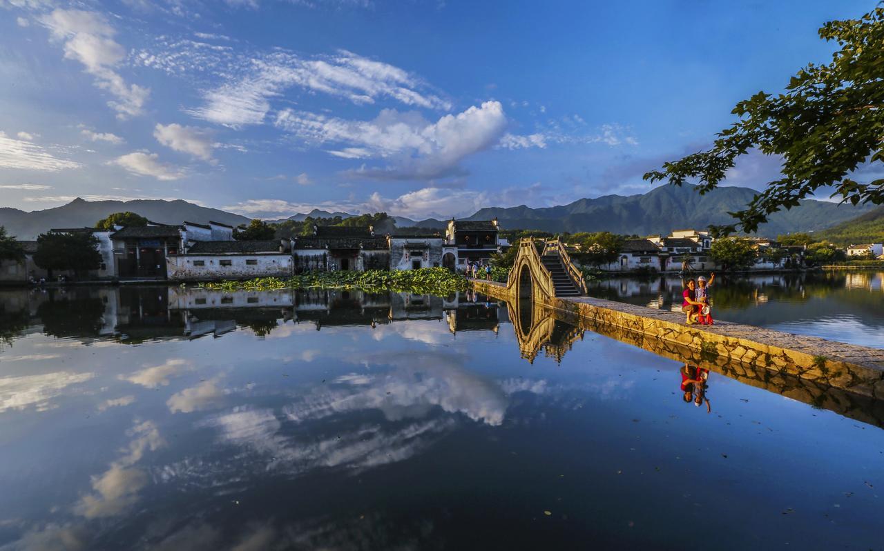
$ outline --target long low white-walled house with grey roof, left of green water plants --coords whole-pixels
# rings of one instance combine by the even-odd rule
[[[294,264],[290,245],[278,239],[196,241],[187,253],[166,256],[166,274],[172,281],[289,277]]]

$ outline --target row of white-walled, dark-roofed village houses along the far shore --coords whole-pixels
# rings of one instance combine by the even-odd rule
[[[510,243],[498,221],[455,221],[444,230],[396,230],[378,235],[371,226],[314,225],[309,235],[293,238],[246,240],[234,238],[232,226],[210,222],[169,225],[52,229],[49,235],[88,234],[101,261],[88,270],[46,268],[38,261],[37,241],[19,241],[23,258],[0,261],[0,283],[65,281],[196,282],[254,277],[286,277],[308,271],[365,271],[448,268],[464,271],[470,265],[501,265]],[[522,232],[526,233],[526,232]],[[512,235],[512,232],[509,232]],[[711,271],[722,267],[714,260],[715,239],[709,232],[674,230],[667,236],[620,238],[616,245],[600,245],[575,234],[568,252],[584,268],[602,272]],[[598,235],[598,234],[583,234]],[[607,234],[610,235],[610,234]],[[743,238],[751,245],[749,270],[803,269],[808,244],[783,244],[766,238]],[[606,246],[604,254],[599,247]],[[832,246],[834,245],[827,245]],[[842,259],[884,260],[882,244],[851,245],[837,251]],[[45,256],[45,252],[43,253]],[[832,256],[832,255],[830,255]],[[505,264],[504,264],[505,266]]]

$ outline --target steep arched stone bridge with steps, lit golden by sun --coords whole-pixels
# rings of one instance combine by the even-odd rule
[[[558,239],[523,238],[507,278],[514,297],[545,302],[553,297],[586,295],[586,282]]]

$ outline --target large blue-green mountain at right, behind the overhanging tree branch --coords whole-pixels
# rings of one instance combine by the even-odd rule
[[[732,223],[728,212],[746,206],[755,191],[745,187],[720,187],[700,195],[694,186],[661,185],[640,195],[606,195],[575,200],[568,205],[548,208],[483,208],[466,220],[497,217],[507,230],[612,231],[621,234],[666,234],[671,230],[705,229],[711,224]],[[793,231],[823,230],[872,207],[838,205],[827,201],[804,200],[800,207],[776,213],[758,229],[758,235],[776,237]]]

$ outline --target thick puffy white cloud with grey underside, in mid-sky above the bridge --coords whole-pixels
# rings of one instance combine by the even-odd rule
[[[500,102],[484,102],[435,123],[419,113],[384,109],[371,121],[350,121],[285,109],[276,125],[311,145],[342,144],[333,152],[343,157],[363,156],[390,162],[386,168],[362,168],[360,176],[384,179],[432,179],[461,172],[460,162],[492,147],[507,126]]]

